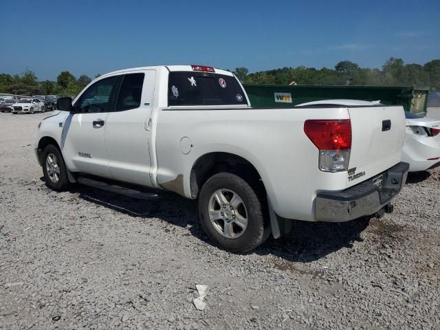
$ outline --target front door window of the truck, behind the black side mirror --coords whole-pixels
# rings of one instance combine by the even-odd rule
[[[75,103],[75,107],[80,108],[80,112],[96,113],[109,112],[111,97],[115,91],[116,76],[99,80],[91,85],[79,100]]]

